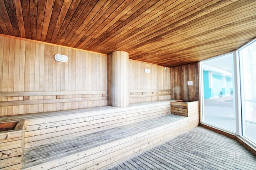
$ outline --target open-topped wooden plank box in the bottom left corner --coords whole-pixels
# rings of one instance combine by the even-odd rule
[[[22,168],[24,120],[0,123],[0,169]]]

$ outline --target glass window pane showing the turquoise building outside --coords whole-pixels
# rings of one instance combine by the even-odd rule
[[[233,54],[201,62],[203,69],[203,122],[236,131],[233,102]]]

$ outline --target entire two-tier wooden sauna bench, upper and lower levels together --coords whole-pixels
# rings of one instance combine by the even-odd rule
[[[198,126],[198,111],[171,114],[176,101],[4,116],[0,123],[24,120],[22,169],[106,169]]]

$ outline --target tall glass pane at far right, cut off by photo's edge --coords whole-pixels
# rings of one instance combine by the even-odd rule
[[[240,61],[242,135],[256,144],[256,41],[238,51]]]

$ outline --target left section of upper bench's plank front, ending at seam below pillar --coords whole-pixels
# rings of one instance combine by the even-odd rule
[[[68,114],[26,121],[25,149],[56,143],[126,124],[123,109],[73,110]]]

